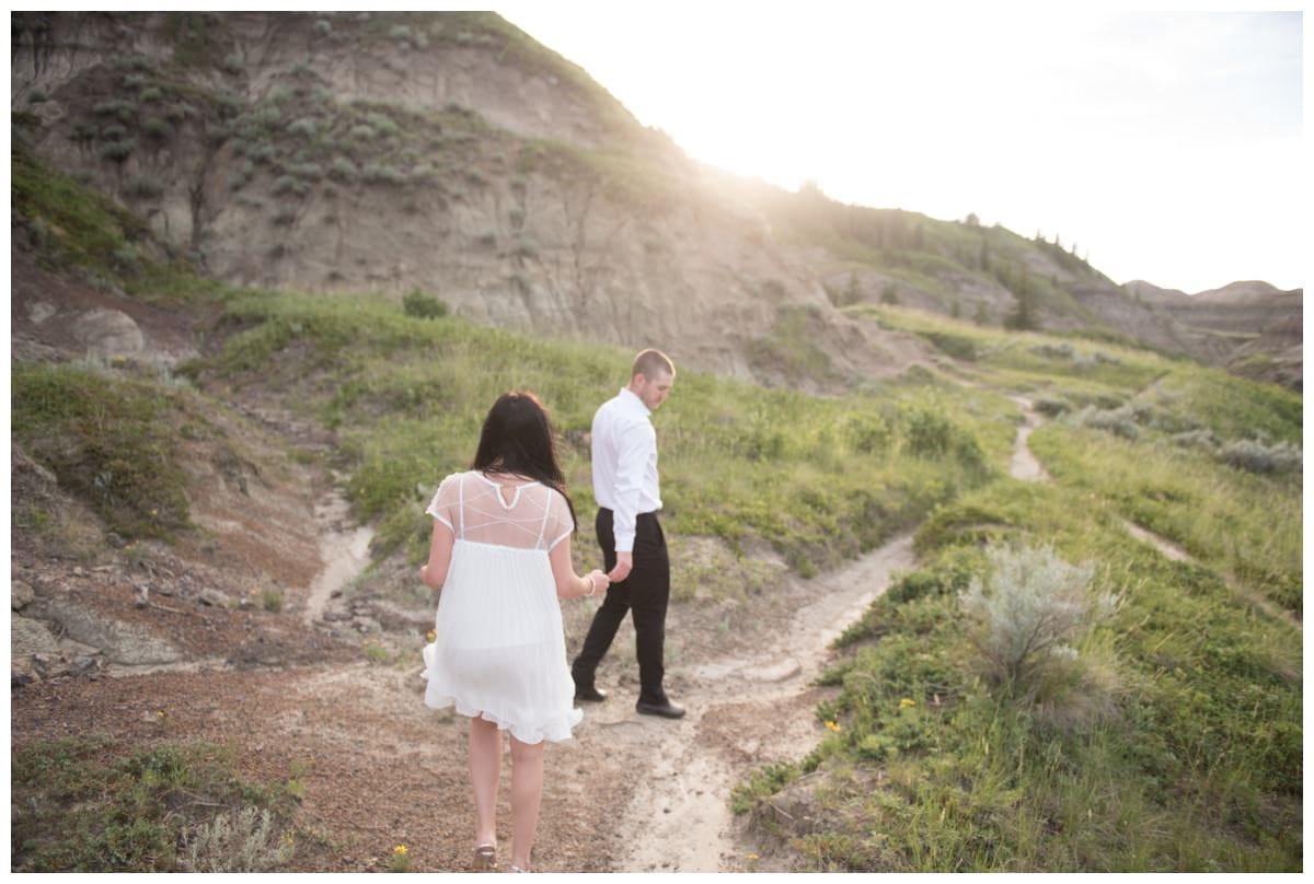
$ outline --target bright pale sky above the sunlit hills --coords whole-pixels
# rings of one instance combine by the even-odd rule
[[[1058,234],[1116,282],[1303,286],[1302,14],[1050,9],[516,0],[498,13],[696,160]]]

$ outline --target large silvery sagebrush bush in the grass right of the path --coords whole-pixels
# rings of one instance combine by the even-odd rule
[[[1079,691],[1076,645],[1109,617],[1118,598],[1093,592],[1089,562],[1070,565],[1050,546],[987,549],[992,573],[972,578],[959,603],[972,621],[983,675],[1028,703]]]

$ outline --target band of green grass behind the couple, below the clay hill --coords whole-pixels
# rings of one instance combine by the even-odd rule
[[[436,482],[464,469],[486,409],[532,389],[562,435],[577,511],[593,511],[583,433],[624,384],[628,351],[531,339],[357,297],[234,299],[204,386],[286,382],[336,430],[357,515],[384,550],[423,554]],[[678,356],[677,356],[678,361]],[[957,387],[888,385],[819,399],[679,370],[657,414],[668,531],[774,545],[811,575],[908,528],[1007,462],[1016,406]],[[731,588],[731,587],[728,587]]]

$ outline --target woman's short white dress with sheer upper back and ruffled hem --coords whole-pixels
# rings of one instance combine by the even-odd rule
[[[455,540],[438,637],[424,648],[424,704],[480,716],[526,743],[569,740],[583,712],[548,552],[570,536],[570,510],[545,485],[499,479],[448,475],[426,510]]]

